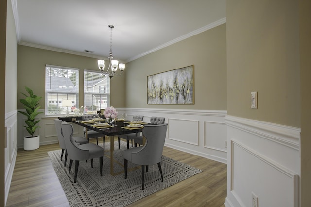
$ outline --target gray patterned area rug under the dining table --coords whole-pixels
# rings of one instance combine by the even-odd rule
[[[121,141],[120,150],[117,146],[118,142],[115,143],[114,172],[121,172],[124,170],[122,151],[126,150],[126,144]],[[145,172],[145,188],[142,190],[141,167],[138,165],[128,163],[127,179],[124,179],[124,173],[110,175],[110,143],[105,143],[103,177],[100,176],[98,158],[93,160],[93,168],[90,161],[80,161],[77,183],[74,183],[75,162],[69,174],[69,160],[64,167],[64,159],[60,161],[61,150],[51,151],[48,154],[70,207],[123,207],[202,172],[200,169],[162,156],[164,182],[161,182],[157,165],[151,165],[148,172]]]

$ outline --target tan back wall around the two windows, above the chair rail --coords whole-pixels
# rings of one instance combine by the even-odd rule
[[[98,71],[96,58],[43,50],[22,45],[18,45],[17,61],[18,100],[22,98],[20,92],[26,92],[24,87],[28,86],[33,89],[36,95],[43,97],[40,101],[41,108],[44,108],[46,64],[80,69],[79,105],[83,105],[84,69]],[[110,104],[114,107],[125,106],[124,80],[124,76],[115,76],[111,79]],[[19,109],[22,108],[22,105],[19,102],[17,106]]]

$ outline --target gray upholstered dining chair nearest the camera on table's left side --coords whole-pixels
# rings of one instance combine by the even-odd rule
[[[67,122],[62,122],[62,132],[64,135],[66,150],[68,152],[68,158],[70,159],[69,173],[71,171],[72,162],[75,160],[74,170],[74,182],[77,182],[77,174],[80,160],[91,160],[91,167],[93,167],[93,158],[99,158],[100,173],[103,176],[103,158],[104,149],[96,144],[88,143],[79,145],[73,138],[73,127]]]

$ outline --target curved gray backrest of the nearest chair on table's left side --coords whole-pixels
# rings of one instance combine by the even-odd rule
[[[61,123],[61,126],[69,159],[87,160],[89,158],[89,151],[78,148],[79,144],[72,138],[72,125],[64,121]]]

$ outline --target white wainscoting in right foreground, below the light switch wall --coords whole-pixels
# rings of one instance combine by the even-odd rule
[[[226,116],[226,207],[299,207],[300,129]]]

